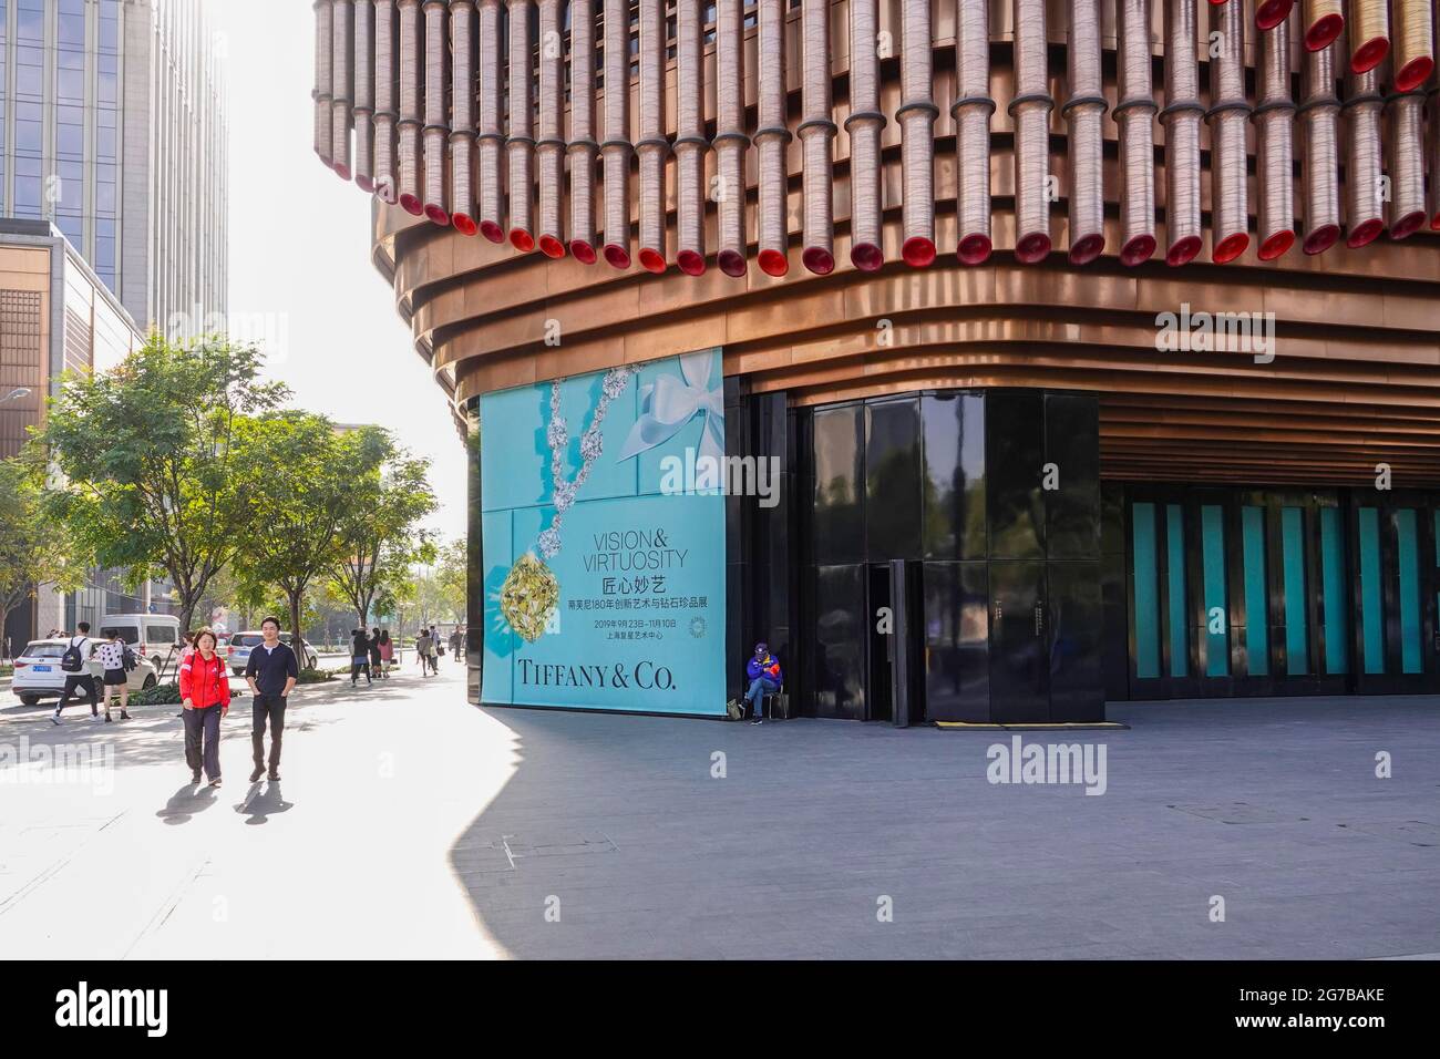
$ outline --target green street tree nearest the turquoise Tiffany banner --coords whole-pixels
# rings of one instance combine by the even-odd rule
[[[419,527],[435,507],[426,463],[395,442],[379,426],[350,435],[357,461],[351,468],[366,503],[347,513],[340,548],[330,565],[330,589],[350,601],[361,625],[395,586],[410,578],[415,563],[431,562],[435,546]]]

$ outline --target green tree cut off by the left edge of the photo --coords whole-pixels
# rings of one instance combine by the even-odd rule
[[[65,526],[45,514],[43,490],[33,467],[0,460],[0,635],[6,620],[42,584],[79,588],[85,575]]]

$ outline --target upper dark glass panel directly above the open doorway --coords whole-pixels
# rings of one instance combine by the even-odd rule
[[[920,402],[865,405],[865,559],[920,556]]]

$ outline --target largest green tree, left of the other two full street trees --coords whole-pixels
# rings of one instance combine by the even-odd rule
[[[259,372],[252,346],[153,334],[111,372],[66,376],[36,435],[59,471],[46,513],[131,584],[168,575],[181,628],[255,520],[238,428],[288,395]]]

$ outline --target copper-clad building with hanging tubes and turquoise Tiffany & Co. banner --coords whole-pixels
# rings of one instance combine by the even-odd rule
[[[896,723],[1440,690],[1430,0],[315,14],[315,150],[471,439],[477,699],[714,713],[762,638]],[[707,441],[779,503],[667,507]],[[668,699],[602,634],[661,532],[724,546],[657,630],[723,686]]]

